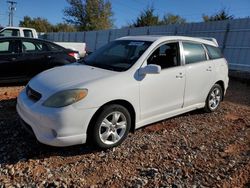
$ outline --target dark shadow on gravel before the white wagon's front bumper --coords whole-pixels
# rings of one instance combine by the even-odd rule
[[[16,99],[0,101],[0,164],[16,164],[29,159],[75,156],[100,152],[90,145],[52,147],[39,143],[21,126]]]

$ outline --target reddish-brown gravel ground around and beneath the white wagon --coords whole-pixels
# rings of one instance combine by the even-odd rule
[[[250,187],[250,85],[218,111],[193,111],[129,134],[119,147],[42,145],[18,123],[19,87],[0,88],[0,187]]]

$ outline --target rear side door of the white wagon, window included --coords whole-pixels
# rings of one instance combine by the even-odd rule
[[[186,84],[184,107],[203,103],[213,85],[214,64],[208,61],[203,44],[182,42]]]

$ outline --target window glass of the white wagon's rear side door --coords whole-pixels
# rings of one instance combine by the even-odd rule
[[[191,42],[183,42],[185,63],[197,63],[201,61],[206,61],[206,52],[202,44],[196,44]]]

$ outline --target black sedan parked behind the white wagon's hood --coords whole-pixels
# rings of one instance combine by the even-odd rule
[[[49,41],[0,37],[0,82],[24,81],[46,69],[78,59],[78,52]]]

